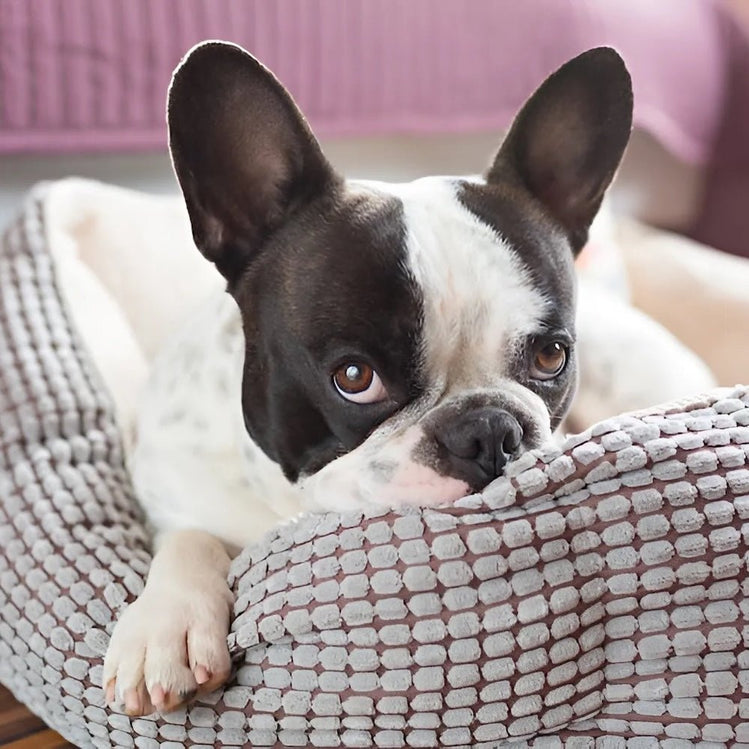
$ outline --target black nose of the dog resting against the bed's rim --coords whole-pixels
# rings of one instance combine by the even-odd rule
[[[435,425],[434,437],[446,451],[450,474],[483,489],[517,452],[523,430],[507,411],[482,406],[450,414]]]

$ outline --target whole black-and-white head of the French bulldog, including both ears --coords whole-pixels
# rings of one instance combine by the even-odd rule
[[[481,179],[344,181],[225,43],[185,58],[168,116],[195,243],[241,311],[247,429],[313,503],[451,501],[551,435],[573,260],[631,128],[616,52],[548,78]]]

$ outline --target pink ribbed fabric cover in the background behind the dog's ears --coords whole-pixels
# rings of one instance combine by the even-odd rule
[[[171,71],[223,38],[268,65],[323,136],[503,129],[553,69],[613,44],[636,122],[705,160],[719,21],[712,2],[683,0],[0,0],[0,152],[163,148]]]

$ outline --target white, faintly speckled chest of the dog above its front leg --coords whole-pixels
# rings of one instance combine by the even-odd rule
[[[228,294],[201,305],[154,361],[132,463],[158,530],[201,527],[243,545],[301,511],[297,490],[245,429],[243,361],[239,312]]]

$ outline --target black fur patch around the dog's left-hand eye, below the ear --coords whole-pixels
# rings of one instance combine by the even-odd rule
[[[422,297],[406,252],[400,200],[341,190],[287,222],[235,286],[245,423],[292,481],[357,447],[423,388]],[[377,371],[387,401],[335,390],[333,371],[356,360]]]

